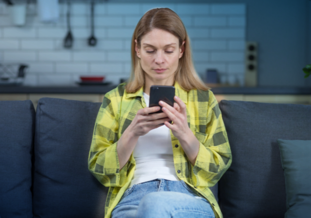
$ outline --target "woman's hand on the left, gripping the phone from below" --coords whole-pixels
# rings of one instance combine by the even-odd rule
[[[139,109],[132,123],[128,126],[132,134],[136,137],[146,135],[150,130],[162,126],[165,121],[170,121],[164,112],[153,113],[158,110],[160,110],[158,106]]]

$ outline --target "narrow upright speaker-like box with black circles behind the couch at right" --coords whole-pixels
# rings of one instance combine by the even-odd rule
[[[258,44],[246,42],[245,45],[245,86],[257,86]]]

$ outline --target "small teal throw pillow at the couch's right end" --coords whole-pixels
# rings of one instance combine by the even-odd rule
[[[311,217],[311,140],[279,139],[278,143],[285,175],[285,218]]]

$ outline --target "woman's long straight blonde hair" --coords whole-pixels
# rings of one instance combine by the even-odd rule
[[[174,79],[185,91],[192,89],[209,90],[210,88],[198,77],[192,60],[190,38],[180,17],[169,8],[155,8],[146,12],[139,20],[132,37],[132,70],[125,90],[127,93],[134,93],[145,85],[144,71],[141,67],[140,58],[135,51],[135,39],[137,46],[140,48],[142,37],[153,29],[168,31],[175,35],[179,40],[179,47],[185,41],[185,50],[183,56],[179,59],[178,67]]]

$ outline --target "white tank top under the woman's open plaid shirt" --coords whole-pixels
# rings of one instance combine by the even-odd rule
[[[149,95],[144,93],[146,105]],[[133,151],[136,160],[134,176],[129,187],[157,178],[178,181],[175,172],[170,129],[165,125],[150,130],[138,138]]]

